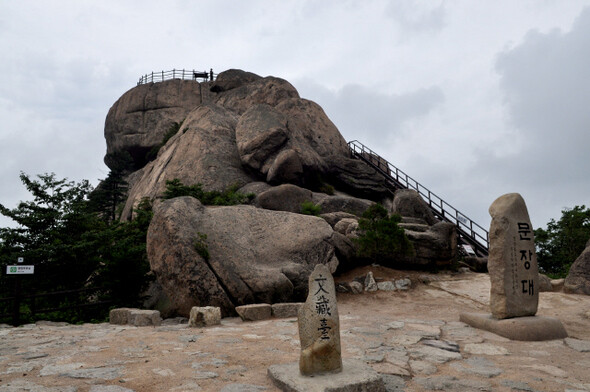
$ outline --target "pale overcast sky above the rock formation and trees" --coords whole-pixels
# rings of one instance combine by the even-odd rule
[[[590,0],[0,1],[0,203],[21,171],[94,185],[104,120],[152,71],[291,82],[476,222],[590,205]],[[0,226],[9,221],[0,219]]]

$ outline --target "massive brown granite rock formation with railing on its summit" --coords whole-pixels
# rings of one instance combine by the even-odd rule
[[[181,122],[164,144],[170,126]],[[234,69],[215,82],[141,85],[113,105],[105,137],[107,163],[114,166],[126,153],[133,158],[121,219],[132,218],[144,198],[154,203],[148,258],[168,297],[168,315],[188,316],[193,306],[218,306],[227,315],[253,302],[304,299],[316,264],[331,272],[354,266],[357,220],[375,202],[413,217],[407,230],[417,256],[406,264],[448,264],[455,257],[454,226],[436,223],[420,196],[394,203],[382,176],[350,157],[321,107],[283,79]],[[148,162],[154,148],[157,156]],[[237,185],[256,198],[235,207],[205,207],[186,197],[162,201],[174,179],[207,191]],[[319,206],[325,219],[301,215],[304,202]]]

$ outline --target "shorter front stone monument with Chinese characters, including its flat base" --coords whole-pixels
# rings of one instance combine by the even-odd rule
[[[273,365],[268,375],[289,392],[385,392],[381,376],[366,363],[342,360],[336,287],[324,264],[309,276],[307,300],[298,313],[299,363]]]

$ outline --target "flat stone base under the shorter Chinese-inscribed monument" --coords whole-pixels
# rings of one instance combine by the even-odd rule
[[[302,376],[299,363],[272,365],[268,376],[284,392],[385,392],[381,376],[366,363],[343,359],[342,371]]]

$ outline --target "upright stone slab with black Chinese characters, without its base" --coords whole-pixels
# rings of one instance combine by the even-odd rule
[[[340,320],[334,278],[326,265],[318,264],[309,276],[309,294],[298,314],[304,376],[342,371]]]

